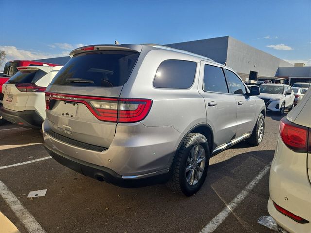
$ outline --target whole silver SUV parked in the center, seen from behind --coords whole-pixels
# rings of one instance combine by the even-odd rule
[[[266,108],[229,67],[159,45],[70,53],[46,90],[44,143],[61,164],[123,187],[197,192],[211,156],[259,145]]]

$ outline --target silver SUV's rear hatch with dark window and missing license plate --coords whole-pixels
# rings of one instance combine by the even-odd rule
[[[141,46],[89,46],[73,50],[72,58],[46,91],[46,121],[50,127],[45,129],[46,133],[108,148],[116,131],[121,104],[118,97],[140,51]]]

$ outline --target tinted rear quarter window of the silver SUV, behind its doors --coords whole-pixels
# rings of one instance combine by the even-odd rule
[[[154,87],[187,89],[192,86],[196,63],[182,60],[166,60],[158,67]]]

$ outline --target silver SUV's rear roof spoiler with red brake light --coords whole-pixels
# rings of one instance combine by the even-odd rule
[[[103,50],[113,50],[113,51],[131,51],[131,52],[141,52],[142,45],[88,45],[83,46],[77,49],[74,49],[70,52],[70,57],[77,55],[79,53],[88,52],[88,51],[103,51]]]

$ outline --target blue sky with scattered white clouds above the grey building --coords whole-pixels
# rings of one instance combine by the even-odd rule
[[[311,66],[311,0],[0,0],[0,9],[0,50],[9,60],[115,40],[169,44],[230,35]]]

